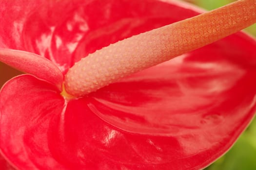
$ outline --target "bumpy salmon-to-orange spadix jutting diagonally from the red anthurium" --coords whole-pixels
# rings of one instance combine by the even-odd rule
[[[64,79],[65,89],[74,96],[86,95],[255,22],[256,0],[238,0],[217,10],[124,39],[88,55],[70,68]]]

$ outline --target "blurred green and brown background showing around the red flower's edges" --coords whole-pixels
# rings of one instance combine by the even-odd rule
[[[184,0],[204,9],[211,10],[235,0]],[[245,29],[256,36],[256,24]],[[21,74],[0,62],[0,87],[10,78]],[[256,119],[239,137],[235,145],[205,170],[256,170]]]

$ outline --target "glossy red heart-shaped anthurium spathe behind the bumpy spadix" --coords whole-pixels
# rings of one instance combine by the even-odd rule
[[[17,44],[0,28],[0,45],[44,55],[65,72],[109,43],[198,14],[155,0],[79,2],[45,1],[23,16]],[[1,152],[21,170],[200,169],[254,116],[255,47],[238,33],[68,103],[52,85],[17,77],[0,92]]]

